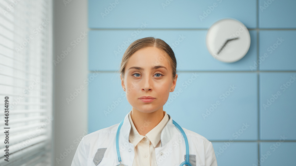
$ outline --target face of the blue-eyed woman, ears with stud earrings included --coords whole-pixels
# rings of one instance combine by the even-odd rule
[[[178,75],[172,78],[168,55],[156,47],[146,47],[135,52],[128,60],[121,85],[133,110],[150,113],[163,110]],[[149,96],[153,99],[141,99]]]

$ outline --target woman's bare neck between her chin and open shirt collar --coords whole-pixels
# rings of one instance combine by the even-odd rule
[[[139,134],[146,135],[163,119],[163,113],[163,108],[151,113],[144,113],[133,108],[131,118]]]

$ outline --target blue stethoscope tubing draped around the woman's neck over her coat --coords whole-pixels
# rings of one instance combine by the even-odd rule
[[[118,139],[119,139],[119,132],[120,132],[120,128],[123,124],[123,120],[119,123],[118,125],[118,128],[117,128],[117,132],[116,132],[116,137],[115,137],[115,143],[116,143],[116,151],[117,151],[117,157],[118,157],[118,162],[119,164],[116,165],[116,166],[127,166],[125,164],[121,164],[121,157],[120,157],[120,152],[119,152],[119,143],[118,143]],[[185,146],[186,146],[186,160],[184,162],[182,162],[180,164],[180,166],[182,165],[189,165],[189,166],[192,166],[189,162],[189,145],[188,145],[188,140],[187,140],[187,137],[186,137],[186,134],[184,132],[184,130],[181,128],[181,126],[179,124],[177,124],[177,122],[175,122],[173,120],[173,124],[180,130],[180,132],[182,133],[183,137],[184,137],[184,140],[185,140]]]

